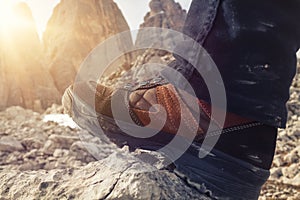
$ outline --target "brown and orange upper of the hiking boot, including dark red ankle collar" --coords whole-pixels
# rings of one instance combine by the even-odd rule
[[[112,109],[113,97],[117,101],[113,106],[113,109],[117,111],[116,115],[113,114]],[[158,128],[164,121],[162,131],[169,134],[176,134],[181,126],[181,129],[186,130],[186,137],[190,137],[189,133],[194,132],[197,138],[204,138],[211,122],[210,106],[207,103],[185,91],[178,90],[162,78],[126,85],[123,89],[117,90],[96,82],[76,83],[66,90],[62,101],[66,113],[73,119],[76,118],[74,112],[78,113],[90,108],[90,111],[93,112],[94,109],[97,115],[129,123],[133,121],[139,126],[147,126],[151,123],[153,129]],[[81,102],[81,106],[77,105],[75,108],[74,104],[78,104],[78,101]],[[198,112],[191,104],[198,106]],[[127,109],[124,110],[124,108]],[[131,119],[122,118],[122,112],[129,113]],[[76,119],[74,121],[77,122]],[[224,127],[247,122],[249,120],[227,113]],[[218,122],[212,120],[212,123],[216,129],[222,129]]]

